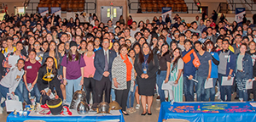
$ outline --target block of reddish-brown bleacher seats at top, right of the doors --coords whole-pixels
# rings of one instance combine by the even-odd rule
[[[173,12],[187,12],[184,0],[140,0],[143,12],[161,12],[163,7],[172,7]]]

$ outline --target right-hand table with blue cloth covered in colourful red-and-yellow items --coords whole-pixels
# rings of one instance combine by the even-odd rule
[[[158,122],[187,119],[190,122],[255,122],[256,103],[161,103]],[[254,107],[253,107],[254,106]]]

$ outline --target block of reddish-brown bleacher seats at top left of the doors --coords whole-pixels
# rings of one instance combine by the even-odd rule
[[[40,0],[38,7],[61,7],[61,11],[84,11],[85,0]]]

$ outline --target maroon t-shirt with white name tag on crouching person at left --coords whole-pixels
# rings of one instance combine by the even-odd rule
[[[40,69],[41,64],[37,61],[35,64],[32,64],[29,61],[25,62],[24,69],[26,70],[26,83],[33,83],[34,80],[37,78],[38,70]]]

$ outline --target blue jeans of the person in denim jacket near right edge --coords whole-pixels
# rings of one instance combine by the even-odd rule
[[[248,80],[247,75],[244,72],[236,73],[236,85],[237,91],[239,93],[239,99],[243,101],[248,100],[248,94],[246,89],[246,80]]]

